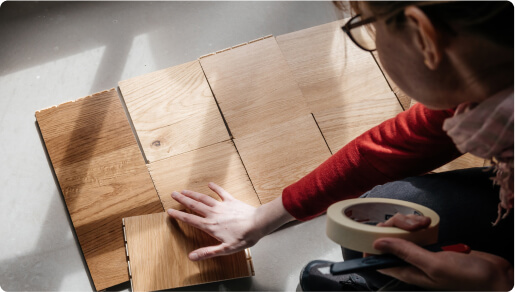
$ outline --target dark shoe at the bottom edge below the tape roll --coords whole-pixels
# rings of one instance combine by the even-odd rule
[[[358,274],[332,275],[334,262],[315,260],[300,272],[302,291],[372,291],[365,278]]]

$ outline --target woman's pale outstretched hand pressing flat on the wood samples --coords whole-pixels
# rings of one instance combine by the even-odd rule
[[[189,254],[190,260],[204,260],[228,255],[256,244],[293,217],[284,209],[281,197],[254,208],[209,183],[221,202],[201,193],[184,190],[173,192],[172,198],[196,214],[168,209],[170,217],[196,227],[220,241],[219,245],[202,247]]]

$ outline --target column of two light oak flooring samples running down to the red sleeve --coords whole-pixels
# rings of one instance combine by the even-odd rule
[[[330,152],[273,37],[200,59],[262,204]]]

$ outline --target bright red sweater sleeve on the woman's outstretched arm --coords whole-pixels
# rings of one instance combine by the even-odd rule
[[[431,171],[459,157],[442,129],[453,110],[416,104],[345,145],[311,173],[286,187],[282,201],[298,220],[309,220],[376,185]]]

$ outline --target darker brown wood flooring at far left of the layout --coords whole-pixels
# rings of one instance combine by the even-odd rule
[[[128,281],[122,218],[163,206],[116,90],[36,118],[95,288]]]

